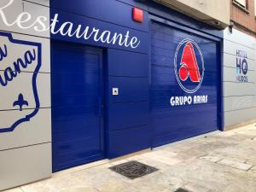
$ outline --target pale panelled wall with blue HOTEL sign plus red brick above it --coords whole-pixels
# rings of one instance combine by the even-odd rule
[[[225,129],[256,119],[255,24],[253,0],[230,1],[223,48]]]

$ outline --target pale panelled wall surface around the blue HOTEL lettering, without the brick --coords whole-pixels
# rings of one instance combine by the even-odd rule
[[[233,29],[230,33],[224,30],[224,63],[223,63],[223,85],[224,85],[224,127],[236,125],[247,120],[256,119],[256,41],[255,38]],[[236,76],[236,50],[242,50],[247,55],[248,66],[247,82],[238,82]]]

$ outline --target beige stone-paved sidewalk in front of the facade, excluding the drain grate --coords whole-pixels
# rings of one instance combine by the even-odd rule
[[[128,160],[159,170],[131,180],[108,169]],[[8,192],[173,192],[179,188],[256,191],[256,124],[166,145],[125,160],[75,167]]]

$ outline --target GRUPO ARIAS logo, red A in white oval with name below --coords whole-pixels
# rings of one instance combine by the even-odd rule
[[[174,56],[174,73],[177,84],[186,93],[192,94],[201,88],[204,79],[204,60],[198,44],[191,39],[183,39],[177,45]],[[171,96],[171,106],[207,103],[208,96]]]

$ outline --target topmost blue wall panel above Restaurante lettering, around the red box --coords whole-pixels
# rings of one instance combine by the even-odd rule
[[[116,0],[73,0],[72,3],[63,3],[62,0],[52,0],[50,5],[52,8],[76,15],[148,32],[148,12],[144,12],[143,23],[134,22],[131,17],[132,6],[127,3],[120,3]]]

